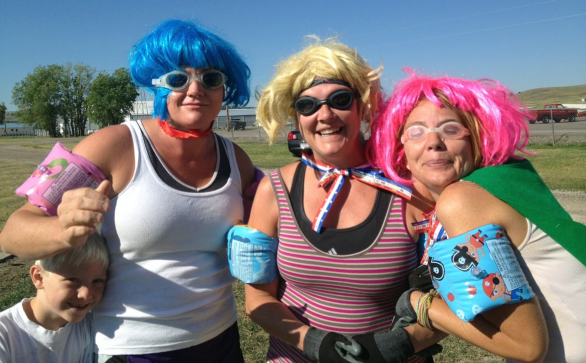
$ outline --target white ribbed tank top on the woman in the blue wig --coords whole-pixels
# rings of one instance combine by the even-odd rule
[[[132,134],[135,170],[112,199],[101,226],[110,268],[94,312],[98,352],[146,354],[200,344],[236,321],[226,233],[243,218],[243,206],[233,145],[212,134],[216,171],[222,154],[230,166],[224,185],[179,191],[156,174],[140,121],[125,124]]]

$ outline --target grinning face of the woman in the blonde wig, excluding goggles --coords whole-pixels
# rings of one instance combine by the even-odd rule
[[[306,89],[299,97],[328,99],[340,90],[350,90],[340,84],[318,84]],[[297,128],[311,146],[315,160],[339,168],[355,167],[366,160],[360,136],[360,117],[356,99],[346,110],[336,110],[324,103],[315,113],[297,113]]]

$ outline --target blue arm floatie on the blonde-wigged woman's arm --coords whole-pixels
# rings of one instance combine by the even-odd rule
[[[246,284],[268,284],[279,277],[279,240],[246,225],[228,231],[230,273]]]

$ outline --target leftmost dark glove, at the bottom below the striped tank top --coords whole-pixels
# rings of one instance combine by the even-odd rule
[[[360,355],[362,347],[345,335],[311,327],[303,340],[303,352],[305,357],[314,362],[356,363],[359,361],[354,359],[352,355]]]

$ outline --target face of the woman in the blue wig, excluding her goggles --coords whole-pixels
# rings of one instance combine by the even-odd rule
[[[206,69],[186,67],[185,72],[196,76]],[[167,97],[167,122],[182,131],[206,131],[222,110],[224,87],[208,89],[197,80],[181,91],[172,91]]]

